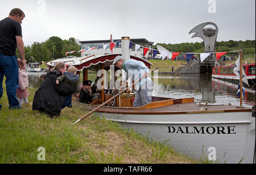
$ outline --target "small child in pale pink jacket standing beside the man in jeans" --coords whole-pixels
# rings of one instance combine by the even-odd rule
[[[19,105],[23,107],[23,101],[25,104],[29,104],[27,97],[28,97],[28,77],[26,72],[26,65],[22,65],[20,62],[20,58],[18,58],[18,65],[19,65],[19,87],[16,91],[16,96],[19,98]]]

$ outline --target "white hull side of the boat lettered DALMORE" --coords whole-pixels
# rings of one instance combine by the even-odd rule
[[[209,156],[218,163],[253,163],[255,117],[251,112],[97,115],[160,142],[168,140],[175,150],[194,158]]]

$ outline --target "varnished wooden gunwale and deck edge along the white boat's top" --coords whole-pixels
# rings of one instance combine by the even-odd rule
[[[192,99],[193,98],[155,101],[150,104],[141,106],[139,108],[102,106],[102,108],[98,109],[97,112],[118,114],[201,114],[225,112],[251,112],[250,108],[236,108],[236,106],[230,105],[208,106],[207,110],[205,110],[205,108],[201,110],[201,106],[189,102],[189,100],[191,101]],[[182,103],[182,101],[184,103]],[[92,110],[97,107],[97,105],[77,103],[75,101],[73,101],[73,103],[84,105],[89,110]]]

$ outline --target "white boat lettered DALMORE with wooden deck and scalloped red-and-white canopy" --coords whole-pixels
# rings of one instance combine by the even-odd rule
[[[126,48],[129,48],[129,42],[126,43]],[[125,47],[125,42],[122,47]],[[111,70],[110,65],[118,55],[120,54],[62,58],[48,62],[47,65],[54,66],[57,62],[63,62],[68,66],[75,66],[78,71],[82,71],[83,80],[88,79],[89,70],[102,70],[103,78],[104,72]],[[142,61],[148,68],[152,66],[145,59],[133,55],[129,58]],[[99,99],[95,100],[102,104],[109,99],[109,94],[105,92],[108,89],[109,86],[101,89]],[[95,114],[118,122],[123,127],[132,127],[138,133],[171,144],[176,150],[197,158],[203,156],[220,163],[253,163],[255,112],[251,112],[251,108],[195,103],[193,98],[170,99],[156,96],[152,97],[152,103],[133,108],[133,100],[134,94],[122,94],[113,100],[111,106],[102,106]],[[76,97],[73,97],[73,103],[84,106],[85,110],[98,107],[78,103]]]

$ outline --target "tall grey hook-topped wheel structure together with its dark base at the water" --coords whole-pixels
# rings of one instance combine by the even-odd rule
[[[204,28],[206,25],[213,25],[214,28]],[[190,33],[195,33],[192,38],[200,37],[204,41],[204,52],[216,52],[216,42],[218,36],[218,26],[215,23],[207,22],[196,25],[192,28]],[[214,57],[205,59],[205,61],[200,63],[200,72],[201,73],[212,73],[212,69],[216,62]]]

